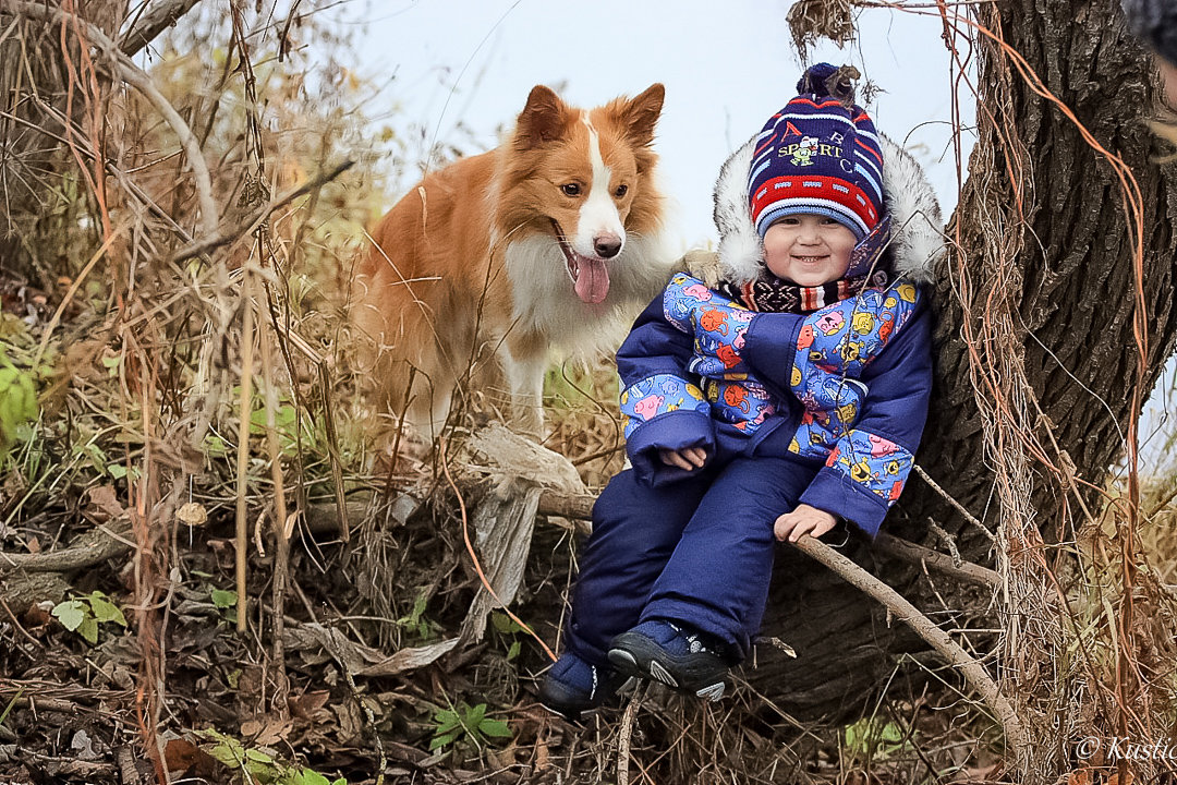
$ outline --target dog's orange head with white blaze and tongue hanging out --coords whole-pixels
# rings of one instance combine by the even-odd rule
[[[497,235],[548,234],[585,302],[609,294],[609,267],[624,260],[627,238],[660,221],[652,142],[664,95],[656,84],[585,111],[537,86],[501,151]]]

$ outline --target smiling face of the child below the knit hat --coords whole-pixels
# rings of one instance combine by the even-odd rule
[[[764,261],[777,278],[818,286],[846,274],[857,244],[855,233],[832,218],[786,215],[764,235]]]

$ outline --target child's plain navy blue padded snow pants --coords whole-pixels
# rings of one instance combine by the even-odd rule
[[[661,487],[614,477],[593,507],[565,628],[567,648],[601,665],[614,636],[649,619],[680,621],[747,656],[772,578],[777,517],[819,467],[736,458]]]

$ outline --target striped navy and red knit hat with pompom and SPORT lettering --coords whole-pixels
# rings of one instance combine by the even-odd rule
[[[875,124],[853,102],[847,74],[819,62],[802,74],[797,98],[769,118],[749,175],[760,238],[785,215],[827,215],[863,240],[883,217],[883,154]]]

